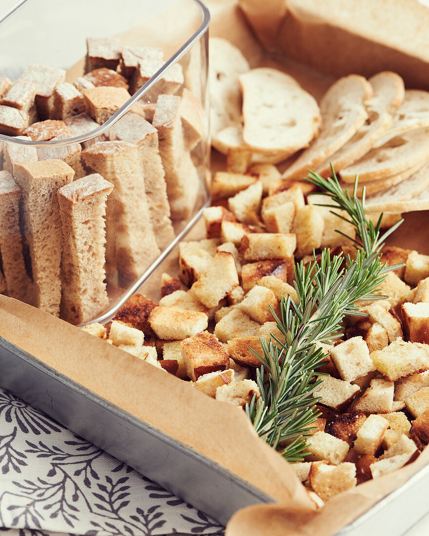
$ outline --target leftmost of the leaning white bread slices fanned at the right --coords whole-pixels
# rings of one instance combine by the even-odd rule
[[[307,175],[308,169],[316,168],[347,143],[367,120],[365,103],[372,96],[372,86],[362,76],[349,75],[337,80],[320,101],[323,126],[319,137],[283,176]]]

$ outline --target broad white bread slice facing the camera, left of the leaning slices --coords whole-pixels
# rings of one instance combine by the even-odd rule
[[[319,106],[291,76],[262,67],[240,75],[239,83],[243,139],[253,150],[293,154],[319,132]]]

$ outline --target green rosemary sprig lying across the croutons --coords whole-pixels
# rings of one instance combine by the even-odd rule
[[[327,354],[318,343],[341,336],[345,315],[365,316],[354,305],[356,301],[383,297],[374,292],[386,273],[397,266],[382,264],[380,251],[387,236],[402,223],[398,221],[380,236],[382,215],[375,226],[365,218],[365,188],[360,200],[356,195],[357,177],[353,196],[343,192],[334,169],[332,178],[324,179],[310,172],[307,181],[331,199],[331,204],[322,206],[346,212],[349,218],[332,210],[354,226],[357,239],[351,240],[357,253],[352,260],[350,255],[331,256],[329,249],[324,249],[320,260],[314,254],[314,262],[304,266],[301,261],[295,265],[298,304],[290,296],[282,297],[280,318],[272,311],[284,340],[273,337],[267,344],[261,338],[263,355],[253,351],[263,364],[256,375],[261,396],[254,396],[246,405],[246,414],[258,435],[288,461],[303,459],[306,437],[320,416],[315,407],[318,399],[312,395],[323,382],[321,378],[314,379]]]

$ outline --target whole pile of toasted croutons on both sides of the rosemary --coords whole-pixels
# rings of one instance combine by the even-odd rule
[[[355,251],[335,233],[352,226],[316,206],[306,183],[279,180],[270,165],[251,171],[215,176],[207,238],[179,245],[178,278],[162,275],[159,302],[135,295],[107,330],[84,328],[236,406],[260,394],[251,348],[282,340],[270,307],[279,314],[282,296],[298,300],[295,258]],[[429,441],[429,256],[390,247],[383,260],[405,263],[383,282],[387,298],[357,303],[368,316],[346,318],[344,337],[322,344],[322,416],[306,461],[293,465],[319,503],[402,467]]]

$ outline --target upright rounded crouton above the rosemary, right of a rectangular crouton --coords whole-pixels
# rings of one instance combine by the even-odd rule
[[[317,207],[306,205],[297,210],[292,233],[297,235],[297,257],[312,254],[322,244],[324,220]]]

